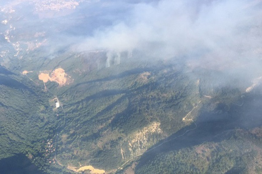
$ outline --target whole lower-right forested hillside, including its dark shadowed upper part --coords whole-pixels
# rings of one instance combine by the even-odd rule
[[[136,173],[261,173],[261,97],[203,107],[193,131],[143,155]]]

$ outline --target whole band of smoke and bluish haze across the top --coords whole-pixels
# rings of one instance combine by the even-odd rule
[[[50,8],[45,10],[48,2],[56,4],[49,3]],[[32,43],[46,40],[41,48],[49,57],[63,50],[104,50],[119,64],[121,52],[132,57],[136,50],[150,59],[182,57],[193,68],[204,66],[234,72],[246,68],[252,69],[251,74],[261,72],[261,0],[65,2],[70,8],[52,10],[66,3],[1,1],[0,22],[7,19],[6,25],[0,25],[3,38],[8,36],[11,43],[21,38],[24,43],[30,39]],[[15,12],[9,13],[12,10]],[[36,33],[44,34],[35,37]]]

